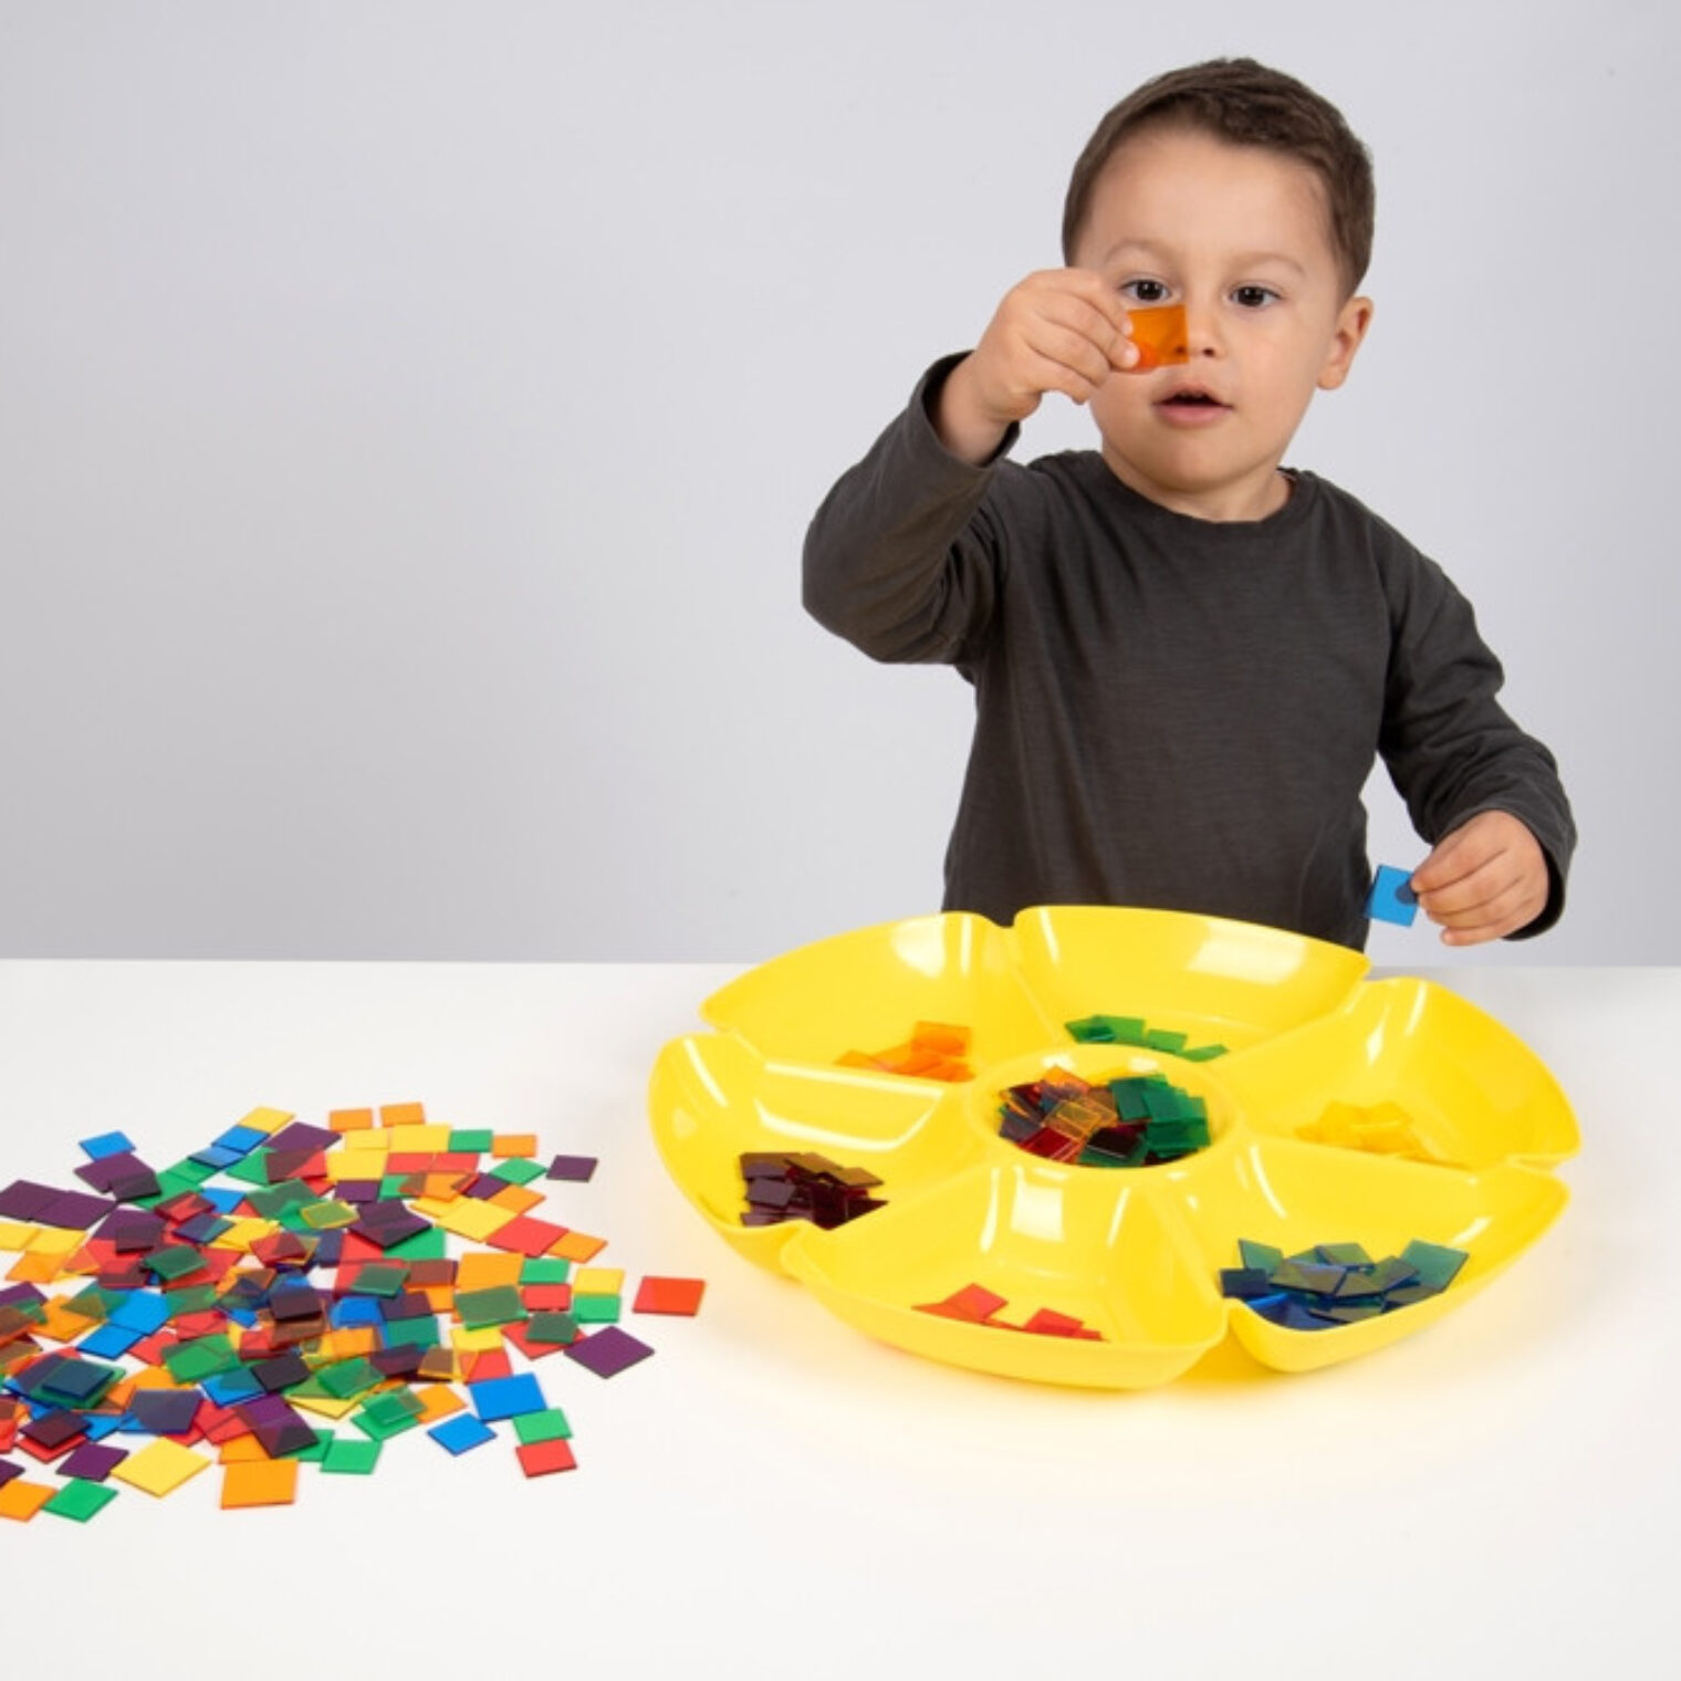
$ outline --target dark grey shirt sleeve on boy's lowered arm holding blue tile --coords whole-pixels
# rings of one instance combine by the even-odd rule
[[[1511,938],[1563,914],[1577,830],[1553,755],[1498,701],[1504,672],[1471,603],[1410,551],[1390,578],[1392,647],[1378,750],[1419,834],[1434,846],[1481,812],[1516,817],[1547,857],[1547,908]]]

